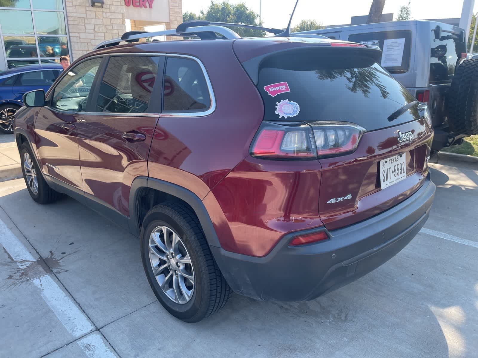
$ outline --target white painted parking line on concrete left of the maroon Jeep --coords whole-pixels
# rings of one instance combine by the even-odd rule
[[[36,261],[33,255],[2,220],[0,220],[0,244],[20,268],[25,268]],[[38,270],[43,270],[43,268],[39,267]],[[65,326],[66,330],[75,338],[94,331],[95,326],[89,318],[54,282],[52,277],[46,272],[41,276],[41,279],[34,278],[32,282],[39,289],[43,300],[58,317],[63,326]],[[90,358],[117,357],[101,339],[98,332],[96,335],[91,334],[83,337],[77,343]]]

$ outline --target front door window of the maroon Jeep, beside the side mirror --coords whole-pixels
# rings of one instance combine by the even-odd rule
[[[85,112],[88,95],[101,58],[78,63],[56,85],[51,107],[62,111]]]

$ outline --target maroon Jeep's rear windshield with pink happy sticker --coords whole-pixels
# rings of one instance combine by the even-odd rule
[[[350,51],[331,52],[292,52],[261,64],[257,87],[264,120],[343,121],[371,131],[419,117],[413,107],[389,122],[393,112],[415,98],[375,60]]]

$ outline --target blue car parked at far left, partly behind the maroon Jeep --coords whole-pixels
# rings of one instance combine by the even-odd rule
[[[13,119],[23,105],[26,92],[36,89],[48,91],[63,71],[61,64],[15,67],[0,71],[0,132],[13,133]]]

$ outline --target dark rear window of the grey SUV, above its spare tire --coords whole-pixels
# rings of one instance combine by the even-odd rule
[[[435,32],[430,34],[430,83],[451,80],[455,74],[458,54],[465,52],[465,46],[458,36],[442,32],[440,39],[435,39]]]

